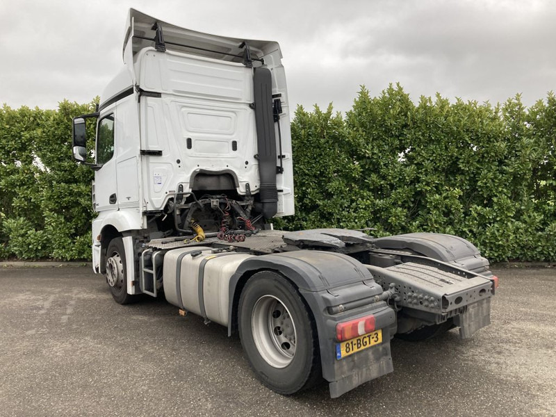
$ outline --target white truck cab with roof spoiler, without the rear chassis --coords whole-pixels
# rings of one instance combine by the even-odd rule
[[[225,195],[231,203],[234,225],[238,218],[262,226],[267,218],[293,214],[289,104],[279,45],[159,21],[154,27],[153,21],[130,11],[124,65],[106,86],[95,115],[93,205],[99,216],[92,256],[100,272],[99,236],[138,230],[150,238],[190,234],[191,220],[206,233],[219,231],[214,197]]]

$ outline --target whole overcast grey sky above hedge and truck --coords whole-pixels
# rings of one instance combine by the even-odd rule
[[[293,104],[351,108],[360,85],[411,99],[525,105],[556,90],[556,1],[0,0],[0,104],[100,95],[122,65],[127,9],[236,38],[277,40]]]

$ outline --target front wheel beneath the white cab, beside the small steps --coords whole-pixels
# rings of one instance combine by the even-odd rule
[[[124,240],[113,238],[106,250],[106,282],[115,302],[129,304],[136,301],[135,295],[127,293],[127,269]]]

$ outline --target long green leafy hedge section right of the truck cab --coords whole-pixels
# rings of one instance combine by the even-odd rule
[[[296,215],[279,226],[434,231],[491,261],[556,261],[552,92],[525,108],[362,88],[345,117],[298,107],[291,129]]]

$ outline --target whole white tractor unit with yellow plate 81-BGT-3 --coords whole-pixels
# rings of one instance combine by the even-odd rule
[[[489,325],[498,278],[467,240],[269,227],[294,213],[277,42],[131,9],[122,52],[97,111],[74,118],[72,141],[95,170],[92,268],[116,302],[163,296],[239,334],[270,389],[324,379],[333,398],[393,371],[394,335],[459,327],[467,338]]]

